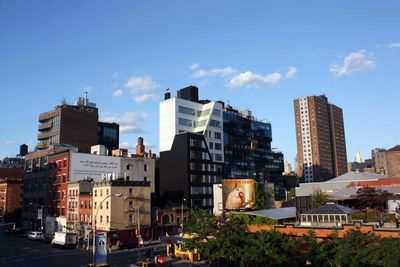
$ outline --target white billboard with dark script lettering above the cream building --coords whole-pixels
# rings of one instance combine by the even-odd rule
[[[101,181],[103,173],[119,173],[121,171],[120,157],[72,152],[70,161],[70,181],[79,181],[84,178]]]

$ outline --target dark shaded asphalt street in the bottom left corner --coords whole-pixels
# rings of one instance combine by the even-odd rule
[[[156,253],[165,255],[163,245],[155,245]],[[143,256],[151,247],[141,249]],[[128,267],[138,260],[138,249],[113,251],[107,256],[111,266]],[[42,244],[28,240],[26,237],[15,237],[0,234],[0,266],[4,267],[43,267],[43,266],[86,266],[92,262],[92,252],[84,249],[53,248],[50,244]]]

